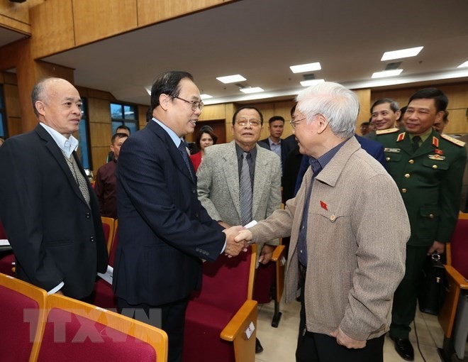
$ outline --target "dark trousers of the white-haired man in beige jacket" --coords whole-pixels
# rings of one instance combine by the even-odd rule
[[[347,349],[340,346],[335,337],[306,331],[304,283],[301,283],[301,319],[296,362],[384,362],[384,338],[385,335],[369,339],[363,349]]]

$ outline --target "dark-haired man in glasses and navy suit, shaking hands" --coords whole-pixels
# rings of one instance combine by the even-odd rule
[[[186,305],[201,286],[202,260],[241,250],[233,241],[239,228],[223,230],[201,206],[182,141],[203,106],[189,73],[160,75],[151,91],[153,118],[123,144],[117,165],[118,309],[133,309],[137,319],[144,312],[144,322],[160,324],[169,336],[169,361],[181,361]],[[152,309],[161,322],[152,320]]]

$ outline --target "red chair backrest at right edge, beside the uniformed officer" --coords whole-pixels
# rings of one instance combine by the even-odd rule
[[[464,278],[468,279],[468,214],[459,213],[455,231],[450,239],[451,265],[458,270]]]

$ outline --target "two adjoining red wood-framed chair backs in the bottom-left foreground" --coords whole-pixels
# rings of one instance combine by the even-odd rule
[[[0,274],[0,361],[167,361],[148,324]]]

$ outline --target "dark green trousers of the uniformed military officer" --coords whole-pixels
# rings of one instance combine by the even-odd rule
[[[409,339],[410,324],[416,315],[416,300],[422,281],[423,265],[428,246],[406,246],[406,271],[396,288],[391,309],[390,336]]]

